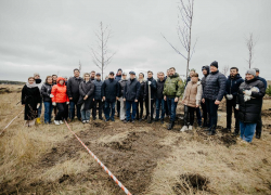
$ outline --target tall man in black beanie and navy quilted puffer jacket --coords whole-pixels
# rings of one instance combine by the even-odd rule
[[[206,129],[209,135],[216,134],[218,121],[218,106],[221,103],[225,91],[227,78],[218,70],[218,62],[210,64],[210,74],[206,78],[206,83],[203,93],[203,103],[206,104],[210,114],[210,127]]]

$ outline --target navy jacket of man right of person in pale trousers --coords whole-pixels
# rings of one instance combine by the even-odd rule
[[[126,101],[139,100],[141,84],[138,79],[129,79],[125,86],[124,98]]]

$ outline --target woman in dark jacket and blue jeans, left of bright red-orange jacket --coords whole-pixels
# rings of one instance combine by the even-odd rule
[[[43,104],[44,104],[44,123],[51,123],[52,110],[53,110],[53,105],[52,105],[53,95],[51,94],[52,87],[53,87],[53,77],[48,76],[46,82],[41,87],[41,95],[43,98]]]

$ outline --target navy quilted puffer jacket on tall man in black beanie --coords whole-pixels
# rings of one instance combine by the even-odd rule
[[[219,70],[210,73],[206,78],[203,98],[212,101],[221,101],[225,91],[227,78]]]

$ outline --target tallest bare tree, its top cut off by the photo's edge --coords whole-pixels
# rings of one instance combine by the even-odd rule
[[[194,16],[194,0],[179,0],[180,4],[178,5],[179,15],[178,15],[178,25],[177,25],[177,34],[179,41],[181,42],[182,48],[184,48],[185,52],[182,52],[177,49],[172,43],[170,43],[167,38],[164,39],[170,44],[170,47],[180,54],[183,58],[186,60],[186,78],[189,75],[189,65],[190,61],[195,52],[195,46],[197,40],[195,41],[194,46],[192,47],[192,22]]]

